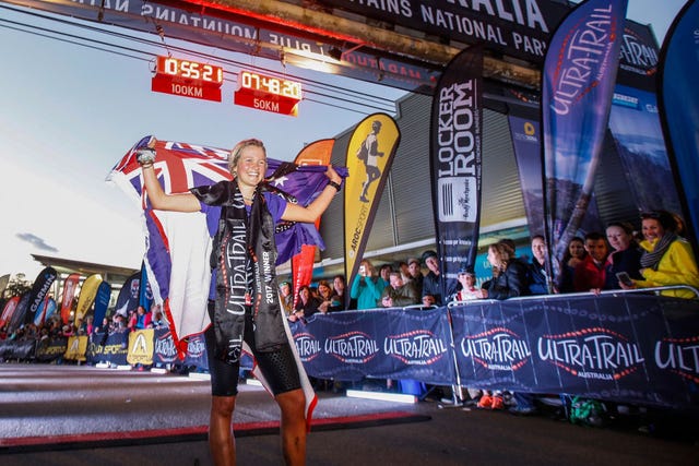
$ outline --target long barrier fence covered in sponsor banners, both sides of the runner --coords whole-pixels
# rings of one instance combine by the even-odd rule
[[[615,291],[477,300],[315,314],[292,332],[308,374],[319,379],[460,382],[673,408],[699,401],[696,299]],[[164,328],[4,340],[0,356],[146,366],[177,358]],[[183,363],[208,368],[202,336],[190,339]]]

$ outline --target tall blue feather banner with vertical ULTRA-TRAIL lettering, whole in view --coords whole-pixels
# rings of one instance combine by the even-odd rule
[[[554,34],[542,73],[547,240],[554,276],[588,211],[624,36],[627,0],[587,0]]]

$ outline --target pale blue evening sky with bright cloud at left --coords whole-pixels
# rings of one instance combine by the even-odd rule
[[[662,44],[683,4],[629,0],[627,17],[651,24]],[[2,8],[0,19],[83,34]],[[2,25],[0,275],[24,273],[34,279],[42,265],[32,253],[138,268],[144,250],[140,207],[105,178],[146,134],[217,147],[259,138],[271,157],[291,160],[304,144],[332,138],[377,111],[301,101],[294,118],[154,93],[145,61]],[[281,70],[280,63],[260,58],[186,47]],[[291,72],[391,100],[405,94],[300,69]]]

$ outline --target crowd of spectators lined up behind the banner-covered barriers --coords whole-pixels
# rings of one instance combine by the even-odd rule
[[[510,299],[532,295],[592,292],[633,288],[689,285],[699,288],[699,272],[689,243],[683,238],[682,223],[672,214],[657,211],[642,214],[641,232],[627,223],[608,224],[604,234],[591,231],[584,238],[574,237],[557,271],[552,264],[543,236],[531,239],[531,260],[517,255],[514,241],[500,239],[487,248],[489,276],[476,276],[473,265],[464,265],[458,279],[447,279],[447,296],[442,296],[439,258],[433,250],[419,259],[407,258],[377,267],[368,259],[360,261],[357,275],[350,286],[343,275],[301,286],[295,296],[289,282],[280,283],[280,301],[291,322],[306,322],[315,314],[348,309],[437,308],[449,302],[477,299]],[[477,285],[479,284],[479,285]],[[695,297],[686,289],[667,289],[663,295]],[[159,307],[151,311],[139,307],[117,312],[98,324],[86,318],[79,327],[63,324],[52,315],[44,324],[24,324],[14,331],[0,328],[3,339],[45,339],[112,333],[167,326]],[[327,381],[325,386],[327,386]],[[387,385],[390,390],[390,382]],[[337,386],[336,384],[334,386]],[[433,387],[434,389],[434,387]],[[439,393],[439,391],[438,391]],[[442,391],[441,393],[447,393]],[[507,391],[482,391],[469,387],[472,403],[484,409],[503,409],[519,415],[536,413],[537,395]],[[441,399],[445,401],[443,398]]]

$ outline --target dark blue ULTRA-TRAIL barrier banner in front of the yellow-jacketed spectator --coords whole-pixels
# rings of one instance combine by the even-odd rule
[[[452,309],[465,386],[661,406],[699,402],[699,301],[605,295]]]

